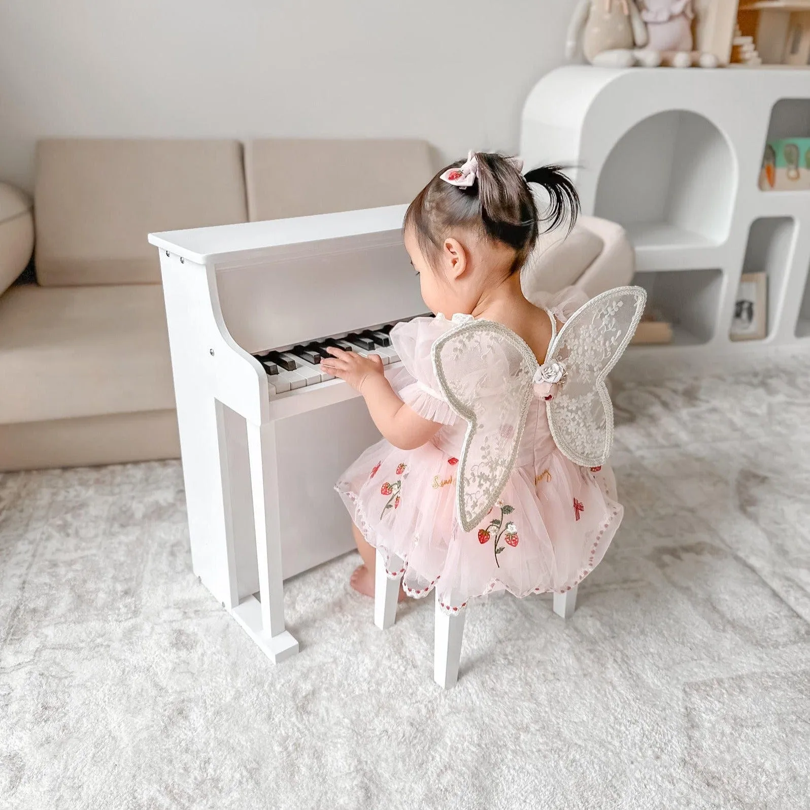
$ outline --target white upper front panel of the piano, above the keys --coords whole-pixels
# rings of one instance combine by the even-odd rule
[[[401,241],[217,267],[225,325],[246,352],[304,343],[427,311]]]

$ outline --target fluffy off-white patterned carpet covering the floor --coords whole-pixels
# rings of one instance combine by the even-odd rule
[[[810,807],[810,356],[614,390],[625,522],[567,622],[378,631],[352,554],[274,667],[190,569],[178,463],[0,476],[0,807]]]

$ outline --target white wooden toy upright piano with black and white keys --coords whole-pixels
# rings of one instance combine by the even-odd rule
[[[172,352],[194,573],[278,662],[283,579],[354,548],[333,490],[377,441],[364,402],[318,367],[326,345],[399,358],[424,314],[406,206],[152,233]]]

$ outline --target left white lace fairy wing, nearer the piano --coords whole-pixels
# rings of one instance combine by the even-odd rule
[[[514,467],[537,360],[518,335],[492,321],[470,320],[446,332],[432,353],[442,394],[467,420],[456,493],[458,521],[472,531]]]

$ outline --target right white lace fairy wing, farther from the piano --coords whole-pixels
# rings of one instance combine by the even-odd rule
[[[548,350],[546,364],[565,367],[564,384],[546,403],[548,425],[561,452],[582,467],[610,456],[613,406],[604,380],[633,338],[646,297],[641,287],[617,287],[590,299]]]

